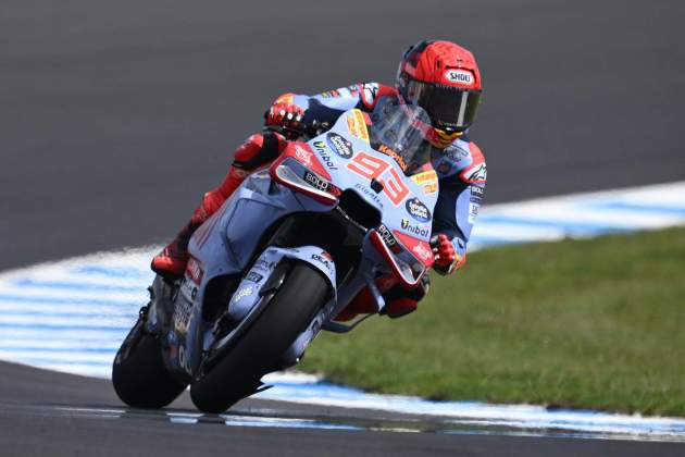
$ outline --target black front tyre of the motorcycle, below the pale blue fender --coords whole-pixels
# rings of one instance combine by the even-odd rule
[[[190,384],[190,398],[203,412],[220,413],[254,393],[328,296],[328,282],[296,262],[266,309],[222,360]]]

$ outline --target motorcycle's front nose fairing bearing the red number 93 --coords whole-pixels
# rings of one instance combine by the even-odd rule
[[[411,158],[377,144],[370,124],[366,113],[348,111],[329,132],[310,140],[309,149],[339,192],[353,190],[378,209],[383,223],[371,242],[396,272],[429,268],[434,261],[428,242],[438,195],[437,174],[429,157],[425,163],[414,163],[410,173]],[[423,267],[413,263],[416,260]],[[415,272],[403,276],[411,285],[419,280]]]

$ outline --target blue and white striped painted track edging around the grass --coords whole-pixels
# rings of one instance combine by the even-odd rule
[[[659,198],[655,198],[659,196]],[[471,249],[593,237],[609,233],[685,225],[685,182],[526,200],[482,209]],[[0,273],[0,359],[48,370],[109,378],[112,359],[147,300],[151,256],[159,246],[98,252]],[[685,419],[547,410],[473,402],[428,402],[375,395],[301,373],[275,373],[273,388],[256,397],[301,405],[364,408],[440,418],[446,433],[510,433],[685,442]],[[68,409],[68,408],[66,408]],[[63,411],[70,413],[70,411]],[[73,412],[73,411],[71,411]],[[80,408],[79,413],[101,411]],[[108,413],[127,415],[111,410]],[[202,415],[158,412],[197,423]],[[226,425],[363,429],[349,420],[221,416]],[[436,431],[403,423],[395,431]]]

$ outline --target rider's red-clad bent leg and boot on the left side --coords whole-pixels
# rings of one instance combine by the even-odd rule
[[[152,270],[166,279],[180,277],[188,263],[188,242],[251,173],[267,166],[285,149],[287,141],[279,135],[256,134],[236,149],[228,174],[219,187],[204,194],[190,221],[176,237],[152,259]]]

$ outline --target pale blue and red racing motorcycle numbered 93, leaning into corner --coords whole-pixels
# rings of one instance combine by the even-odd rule
[[[198,409],[222,412],[322,330],[359,324],[336,317],[364,287],[383,313],[379,279],[420,286],[438,193],[425,125],[420,107],[389,99],[352,109],[250,175],[194,234],[184,277],[149,287],[114,359],[119,397],[161,408],[189,385]]]

